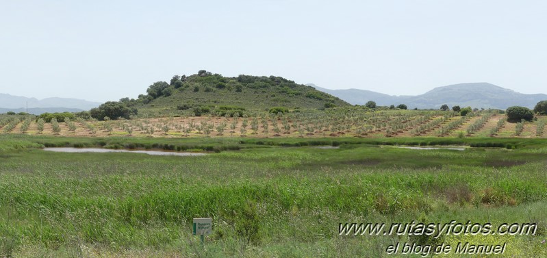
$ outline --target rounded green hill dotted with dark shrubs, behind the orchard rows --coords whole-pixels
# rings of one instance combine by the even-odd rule
[[[175,75],[170,83],[153,83],[147,94],[139,95],[136,102],[139,112],[162,113],[174,112],[177,107],[190,109],[197,106],[264,110],[271,107],[305,109],[350,105],[335,96],[282,77],[222,77],[204,71],[188,77]]]

